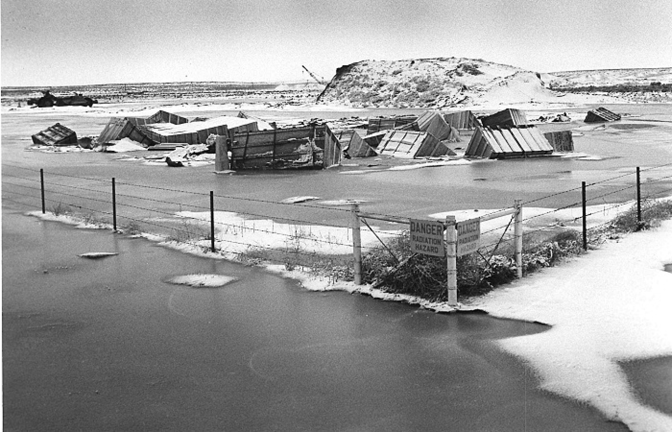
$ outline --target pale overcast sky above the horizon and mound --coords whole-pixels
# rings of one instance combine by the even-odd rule
[[[2,85],[331,79],[359,60],[672,67],[672,0],[1,0]]]

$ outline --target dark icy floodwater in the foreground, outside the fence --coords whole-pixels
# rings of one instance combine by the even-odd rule
[[[190,273],[237,281],[166,282]],[[625,431],[495,345],[545,329],[309,292],[3,205],[7,431]]]

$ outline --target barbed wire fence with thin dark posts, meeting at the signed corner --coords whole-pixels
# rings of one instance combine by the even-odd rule
[[[399,235],[398,228],[386,230],[372,223],[385,220],[404,226],[409,218],[403,216],[363,212],[358,204],[342,208],[273,202],[8,166],[12,172],[3,172],[3,200],[22,209],[67,215],[84,226],[155,236],[186,251],[245,264],[307,269],[329,282],[387,286],[397,279],[423,289],[431,286],[429,297],[445,294],[445,258],[420,257],[411,251],[407,232]],[[664,172],[671,166],[637,168],[519,202],[512,206],[521,209],[517,221],[516,212],[506,209],[480,214],[488,223],[481,226],[476,253],[458,257],[458,286],[480,286],[503,267],[520,277],[552,264],[568,244],[585,251],[608,238],[616,215],[633,206],[641,222],[642,209],[672,193],[672,175]],[[646,180],[640,180],[641,173]],[[548,204],[560,196],[569,204]],[[513,230],[516,222],[518,233]],[[415,279],[401,276],[399,270],[409,267]],[[373,279],[380,269],[387,277]]]

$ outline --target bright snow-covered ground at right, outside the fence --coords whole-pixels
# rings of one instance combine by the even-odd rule
[[[504,339],[545,390],[595,406],[632,431],[672,431],[672,417],[636,398],[620,361],[672,355],[672,220],[544,269],[470,302],[493,316],[552,329]]]

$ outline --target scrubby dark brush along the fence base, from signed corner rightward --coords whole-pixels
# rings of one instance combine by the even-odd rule
[[[637,222],[636,208],[620,214],[611,224],[591,230],[591,245],[601,243],[605,236],[653,228],[661,220],[672,218],[672,201],[644,202],[642,223]],[[532,234],[524,237],[523,275],[544,267],[552,267],[569,257],[583,253],[581,232],[564,229],[555,234]],[[376,249],[362,258],[362,278],[382,290],[411,294],[432,301],[448,300],[446,260],[442,257],[414,255],[410,249],[409,232],[386,243],[387,249]],[[390,253],[391,251],[391,253]],[[460,296],[478,296],[516,279],[514,249],[503,242],[496,255],[464,255],[457,260],[457,282]]]

